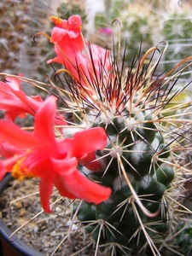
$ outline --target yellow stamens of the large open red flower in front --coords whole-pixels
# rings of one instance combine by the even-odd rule
[[[20,181],[22,181],[24,179],[24,177],[32,177],[34,175],[32,175],[32,172],[29,172],[27,170],[27,168],[21,168],[21,164],[23,162],[23,160],[25,160],[26,158],[21,158],[20,160],[17,160],[15,165],[12,168],[12,176],[14,178],[18,178]]]

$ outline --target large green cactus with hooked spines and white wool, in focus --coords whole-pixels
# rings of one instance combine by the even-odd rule
[[[96,241],[96,253],[102,255],[160,255],[165,248],[177,253],[175,243],[189,246],[190,240],[180,239],[183,233],[178,232],[178,242],[173,236],[183,209],[190,213],[180,205],[187,180],[183,172],[191,176],[182,162],[183,150],[189,152],[189,103],[179,109],[177,86],[166,80],[168,74],[154,79],[158,64],[151,67],[152,58],[146,66],[146,55],[139,57],[128,70],[113,60],[114,78],[108,77],[102,86],[90,84],[93,103],[84,95],[76,98],[77,106],[85,107],[74,112],[75,128],[102,126],[108,134],[107,147],[97,152],[102,172],[89,172],[86,166],[82,172],[110,186],[113,194],[97,206],[83,202],[78,210],[74,207],[87,236]],[[76,89],[70,88],[75,95]],[[73,132],[73,125],[70,129]],[[68,134],[69,129],[63,131]]]

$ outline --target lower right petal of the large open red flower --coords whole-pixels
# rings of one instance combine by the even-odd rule
[[[111,189],[91,182],[76,169],[78,161],[51,159],[55,172],[53,182],[62,196],[70,199],[79,198],[98,204],[108,199]]]

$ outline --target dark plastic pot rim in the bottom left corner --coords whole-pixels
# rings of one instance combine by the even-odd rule
[[[3,193],[3,190],[8,187],[10,180],[12,179],[11,175],[8,174],[3,178],[3,181],[0,183],[0,195]],[[32,249],[26,245],[26,243],[20,241],[17,236],[12,236],[11,240],[9,236],[12,231],[3,223],[3,220],[0,218],[0,255],[1,256],[43,256],[42,253],[38,253],[36,250]]]

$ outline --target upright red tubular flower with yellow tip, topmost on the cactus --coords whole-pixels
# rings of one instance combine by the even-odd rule
[[[68,20],[61,20],[52,16],[50,20],[55,22],[55,27],[51,33],[51,42],[55,44],[57,57],[47,61],[47,63],[54,61],[61,63],[78,80],[80,71],[89,75],[88,60],[82,54],[85,43],[81,33],[82,21],[79,15],[73,15]],[[77,70],[77,66],[79,70]]]

